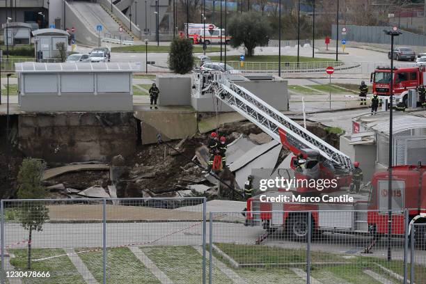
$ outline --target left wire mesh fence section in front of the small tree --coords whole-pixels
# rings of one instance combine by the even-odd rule
[[[1,283],[204,283],[205,198],[1,201]]]

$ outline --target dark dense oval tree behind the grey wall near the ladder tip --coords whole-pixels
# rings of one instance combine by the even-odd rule
[[[186,74],[194,67],[192,43],[187,38],[175,38],[170,45],[168,67],[178,74]]]

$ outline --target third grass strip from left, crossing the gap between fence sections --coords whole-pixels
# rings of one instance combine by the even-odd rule
[[[142,246],[141,250],[173,283],[203,283],[203,258],[192,246]],[[209,261],[206,263],[208,269]],[[213,279],[214,283],[232,283],[216,267],[213,267]]]

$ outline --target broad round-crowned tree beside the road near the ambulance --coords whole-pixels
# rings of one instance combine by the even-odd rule
[[[267,45],[271,27],[260,13],[248,12],[230,19],[228,34],[232,37],[230,41],[232,47],[244,44],[246,56],[253,56],[255,47]]]

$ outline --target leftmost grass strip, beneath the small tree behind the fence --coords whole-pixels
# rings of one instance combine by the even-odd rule
[[[31,269],[26,269],[27,265],[27,250],[26,249],[11,249],[10,253],[15,255],[15,258],[10,259],[10,264],[16,270],[22,271],[49,271],[50,277],[46,278],[22,278],[22,283],[81,283],[85,281],[79,274],[77,269],[72,264],[68,256],[52,258],[50,260],[42,260],[31,262]],[[47,258],[53,255],[63,255],[65,251],[61,248],[33,248],[31,249],[32,259]]]

